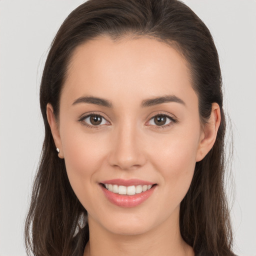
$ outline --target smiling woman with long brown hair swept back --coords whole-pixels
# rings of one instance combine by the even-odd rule
[[[186,5],[78,6],[52,42],[40,105],[27,250],[233,255],[218,55]]]

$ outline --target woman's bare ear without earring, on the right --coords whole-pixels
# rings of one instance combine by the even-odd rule
[[[196,161],[200,161],[212,148],[216,136],[218,127],[220,124],[220,108],[217,103],[212,103],[210,117],[205,123],[204,128],[201,132],[199,145],[196,152]]]

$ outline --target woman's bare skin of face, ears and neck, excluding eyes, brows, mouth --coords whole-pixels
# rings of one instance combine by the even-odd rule
[[[215,141],[219,106],[212,104],[202,128],[185,60],[151,38],[114,42],[97,37],[74,50],[67,74],[58,121],[50,104],[47,117],[70,184],[88,211],[90,239],[84,255],[194,255],[180,236],[179,204],[195,162]],[[184,103],[141,107],[143,100],[164,95]],[[73,104],[83,96],[107,99],[112,108]],[[84,125],[91,124],[88,118],[78,120],[91,112],[104,119],[89,128]],[[157,126],[152,118],[157,114],[176,121],[166,118],[166,124]],[[144,202],[124,208],[109,202],[99,185],[113,178],[157,185]]]

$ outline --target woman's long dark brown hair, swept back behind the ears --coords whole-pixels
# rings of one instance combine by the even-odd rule
[[[211,105],[220,107],[216,141],[196,162],[191,185],[180,203],[179,226],[195,255],[233,255],[229,210],[224,190],[225,116],[218,54],[208,28],[178,0],[88,0],[74,9],[54,37],[40,85],[45,138],[25,220],[26,252],[82,255],[89,239],[86,209],[68,181],[64,160],[56,157],[46,105],[59,114],[59,100],[74,49],[98,36],[119,40],[149,36],[174,47],[186,60],[198,96],[201,123]]]

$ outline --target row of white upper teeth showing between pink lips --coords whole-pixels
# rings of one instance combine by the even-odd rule
[[[149,190],[152,185],[137,185],[137,186],[118,186],[118,185],[112,185],[112,184],[104,184],[105,188],[113,193],[118,194],[127,194],[127,195],[133,195],[133,194],[139,194],[141,192],[145,192],[146,190]]]

